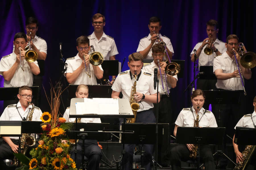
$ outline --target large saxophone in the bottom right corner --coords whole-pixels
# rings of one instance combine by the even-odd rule
[[[251,156],[253,155],[253,152],[255,150],[255,145],[247,145],[245,147],[245,150],[242,152],[242,161],[238,162],[233,170],[244,170],[247,163],[251,159]]]

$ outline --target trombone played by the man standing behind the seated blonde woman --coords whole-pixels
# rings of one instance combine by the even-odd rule
[[[89,76],[89,78],[91,78],[91,70],[90,70],[90,63],[94,66],[97,66],[97,65],[101,65],[103,63],[103,60],[104,60],[104,57],[103,55],[100,53],[100,52],[95,52],[94,50],[94,46],[91,45],[90,47],[92,47],[92,49],[90,49],[88,51],[88,53],[92,50],[92,54],[89,55],[89,63],[88,63],[88,66],[89,66],[89,72],[87,72],[87,68],[86,68],[86,63],[85,63],[85,55],[83,55],[84,57],[84,66],[85,66],[85,72],[86,74]]]

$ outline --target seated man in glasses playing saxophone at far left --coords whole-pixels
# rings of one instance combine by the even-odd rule
[[[0,121],[26,120],[28,113],[32,110],[32,105],[28,104],[28,102],[31,102],[33,97],[32,89],[28,86],[21,86],[17,97],[19,102],[14,105],[7,106],[0,117]],[[42,111],[40,108],[34,106],[32,121],[42,121],[40,119],[41,116]],[[12,159],[14,156],[13,152],[18,153],[18,139],[18,137],[3,137],[3,144],[0,145],[0,162],[4,159]],[[27,153],[29,153],[29,151]]]

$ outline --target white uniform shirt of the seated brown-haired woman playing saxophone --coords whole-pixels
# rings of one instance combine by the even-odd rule
[[[184,108],[183,110],[181,110],[175,124],[180,127],[194,127],[194,122],[197,118],[197,114],[194,107],[192,107],[192,111],[193,114],[190,108]],[[203,107],[199,111],[199,126],[209,128],[218,127],[213,113],[211,111],[206,111],[203,115],[204,111],[205,109]]]

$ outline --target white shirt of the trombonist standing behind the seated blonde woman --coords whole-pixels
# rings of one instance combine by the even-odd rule
[[[82,59],[79,57],[78,53],[75,57],[72,58],[67,58],[66,63],[67,63],[67,72],[66,73],[73,73],[81,64],[82,64]],[[90,65],[90,70],[91,70],[91,78],[86,74],[85,68],[83,71],[80,73],[80,75],[77,77],[77,79],[71,83],[71,84],[86,84],[86,85],[97,85],[97,80],[96,76],[94,74],[94,70],[91,64]],[[101,65],[98,65],[100,69],[103,71]],[[87,66],[88,68],[88,66]],[[87,69],[87,72],[89,72],[89,69]]]

